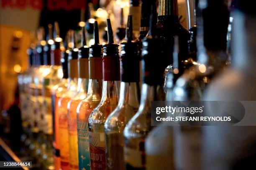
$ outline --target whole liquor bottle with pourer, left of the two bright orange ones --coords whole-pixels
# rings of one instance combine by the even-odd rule
[[[67,104],[71,97],[77,93],[77,78],[78,78],[78,48],[76,48],[76,40],[74,30],[70,30],[72,50],[69,52],[68,57],[68,71],[69,82],[67,92],[64,93],[56,108],[56,114],[59,115],[59,149],[61,157],[61,169],[69,170],[69,133],[68,133],[68,120],[67,120]]]

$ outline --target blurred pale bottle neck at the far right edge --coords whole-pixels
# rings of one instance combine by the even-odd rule
[[[256,65],[256,18],[234,11],[232,25],[232,67],[253,72]]]

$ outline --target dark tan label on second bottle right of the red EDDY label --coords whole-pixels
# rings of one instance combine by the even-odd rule
[[[146,155],[144,151],[144,141],[141,141],[139,145],[140,150],[124,147],[124,159],[126,169],[145,168]]]

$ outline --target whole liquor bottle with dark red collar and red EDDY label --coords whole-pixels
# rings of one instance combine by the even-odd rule
[[[107,19],[108,44],[103,45],[103,86],[100,104],[89,117],[89,143],[92,170],[105,170],[104,123],[118,105],[120,88],[120,62],[118,45],[114,44],[110,19]]]

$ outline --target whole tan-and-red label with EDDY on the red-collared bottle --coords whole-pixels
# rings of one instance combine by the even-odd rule
[[[104,133],[89,132],[91,170],[105,170],[105,137]]]

